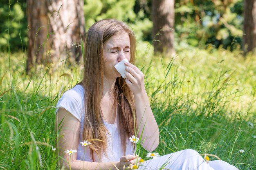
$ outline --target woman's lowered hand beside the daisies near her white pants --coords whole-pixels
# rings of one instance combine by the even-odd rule
[[[134,165],[135,161],[139,161],[141,158],[136,155],[126,155],[120,158],[120,161],[117,163],[117,168],[119,170],[130,170],[130,165]]]

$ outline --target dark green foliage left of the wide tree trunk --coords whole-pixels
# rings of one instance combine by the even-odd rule
[[[27,42],[26,0],[0,2],[0,51],[25,49]]]

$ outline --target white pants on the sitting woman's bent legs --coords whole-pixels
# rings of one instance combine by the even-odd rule
[[[235,166],[221,160],[204,161],[202,156],[192,149],[181,150],[168,155],[145,161],[139,170],[238,170]]]

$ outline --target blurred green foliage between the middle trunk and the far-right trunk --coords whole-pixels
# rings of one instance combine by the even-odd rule
[[[242,12],[242,0],[175,1],[177,41],[203,48],[211,44],[231,51],[240,49],[243,38]]]

